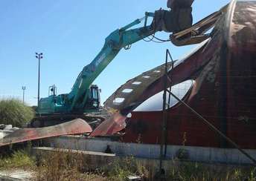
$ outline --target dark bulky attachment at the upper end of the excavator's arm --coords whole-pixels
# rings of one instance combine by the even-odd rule
[[[167,0],[170,10],[157,10],[153,20],[155,30],[177,33],[192,26],[194,0]]]

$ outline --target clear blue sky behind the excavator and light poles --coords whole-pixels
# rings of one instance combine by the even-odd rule
[[[48,86],[68,93],[83,66],[89,64],[113,30],[144,16],[145,11],[166,8],[167,0],[1,0],[0,1],[0,98],[22,99],[36,105],[37,65],[42,59],[41,97]],[[228,0],[195,0],[194,22],[219,10]],[[157,33],[167,39],[167,33]],[[121,53],[95,80],[102,89],[102,102],[120,85],[138,74],[164,63],[168,48],[179,59],[192,46],[175,47],[170,42],[137,42]]]

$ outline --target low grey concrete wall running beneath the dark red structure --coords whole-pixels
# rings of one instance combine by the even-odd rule
[[[77,149],[81,151],[104,152],[109,145],[112,152],[119,156],[134,156],[141,158],[159,158],[159,145],[113,142],[110,139],[87,138],[84,136],[60,136],[45,140],[45,145],[54,148]],[[252,162],[237,149],[204,148],[192,146],[167,146],[167,158],[173,159],[182,149],[188,152],[189,159],[196,162],[220,162],[229,164],[252,164]],[[246,150],[256,159],[256,150]]]

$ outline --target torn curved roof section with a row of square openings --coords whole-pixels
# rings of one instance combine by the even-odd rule
[[[199,57],[204,53],[202,51],[210,40],[211,39],[205,40],[190,53],[187,53],[185,58],[182,57],[182,59],[175,61],[173,71],[170,69],[171,63],[169,62],[169,73],[173,73],[173,85],[185,81],[191,74],[196,73],[209,61],[208,59],[200,59]],[[214,53],[214,50],[204,53],[204,56],[210,56],[209,54],[212,53]],[[156,72],[159,70],[160,72]],[[161,65],[142,73],[134,79],[130,79],[118,88],[112,96],[109,96],[106,102],[104,102],[104,106],[121,111],[122,113],[129,113],[129,111],[141,105],[142,102],[163,90],[163,75],[164,65]],[[150,76],[150,78],[146,79],[145,76]],[[124,93],[126,89],[132,89],[132,92]]]

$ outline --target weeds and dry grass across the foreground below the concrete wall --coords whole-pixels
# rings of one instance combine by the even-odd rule
[[[33,180],[127,180],[139,175],[144,180],[156,180],[152,166],[143,166],[133,157],[118,159],[103,168],[92,169],[92,162],[80,153],[51,152],[34,159],[26,151],[16,151],[11,157],[0,159],[0,169],[23,168],[35,171]],[[256,180],[256,168],[199,164],[173,160],[165,171],[166,180]]]

